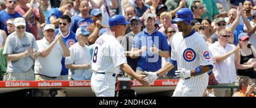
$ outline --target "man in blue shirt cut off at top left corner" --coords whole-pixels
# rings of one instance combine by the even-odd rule
[[[15,7],[18,5],[18,1],[16,0],[7,0],[6,1],[6,9],[0,11],[0,29],[4,30],[7,34],[7,20],[8,19],[15,19],[15,18],[22,18],[22,15],[20,15],[18,12],[15,11]]]

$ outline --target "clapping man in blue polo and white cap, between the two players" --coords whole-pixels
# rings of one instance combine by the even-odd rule
[[[131,48],[131,58],[138,58],[138,75],[144,74],[144,71],[157,71],[161,68],[162,58],[170,56],[167,38],[155,29],[154,14],[146,14],[144,17],[146,28],[135,34],[133,47]]]

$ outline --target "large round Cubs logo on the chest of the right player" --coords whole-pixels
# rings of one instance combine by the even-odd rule
[[[183,58],[187,62],[192,62],[196,59],[196,52],[191,48],[187,48],[183,52]]]

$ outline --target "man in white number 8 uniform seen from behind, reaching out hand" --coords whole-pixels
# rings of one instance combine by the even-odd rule
[[[110,32],[102,34],[94,43],[91,87],[97,97],[114,97],[115,77],[119,68],[143,85],[148,85],[145,76],[135,74],[127,64],[123,46],[116,39],[125,34],[127,24],[130,23],[124,16],[112,16],[109,19]]]

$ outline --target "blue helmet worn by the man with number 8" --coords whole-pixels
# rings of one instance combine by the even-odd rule
[[[113,27],[119,24],[130,24],[129,21],[126,21],[125,16],[123,15],[114,15],[109,19],[109,27]]]

